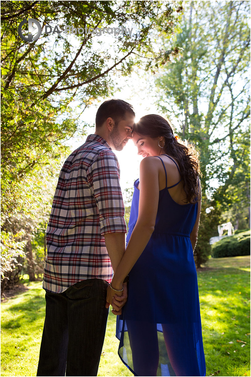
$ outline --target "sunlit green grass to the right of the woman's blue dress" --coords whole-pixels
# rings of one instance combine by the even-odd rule
[[[197,273],[207,375],[250,375],[250,256],[207,267]]]

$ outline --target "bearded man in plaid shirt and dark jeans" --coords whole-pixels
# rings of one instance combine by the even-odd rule
[[[130,104],[105,101],[96,113],[95,134],[60,172],[46,230],[38,376],[97,375],[109,311],[106,288],[124,254],[127,231],[112,149],[124,148],[134,122]],[[122,296],[125,303],[126,285]]]

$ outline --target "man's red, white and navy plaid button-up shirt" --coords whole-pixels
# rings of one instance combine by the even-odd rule
[[[119,173],[115,154],[98,135],[89,135],[64,162],[46,230],[46,291],[112,280],[104,234],[127,232]]]

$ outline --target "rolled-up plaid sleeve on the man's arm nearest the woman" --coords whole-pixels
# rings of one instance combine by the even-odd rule
[[[87,172],[89,186],[99,211],[102,235],[127,232],[119,173],[118,160],[109,150],[99,154]]]

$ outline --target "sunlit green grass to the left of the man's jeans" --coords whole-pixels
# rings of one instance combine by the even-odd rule
[[[26,283],[27,291],[1,307],[1,376],[35,376],[45,316],[41,282]]]

